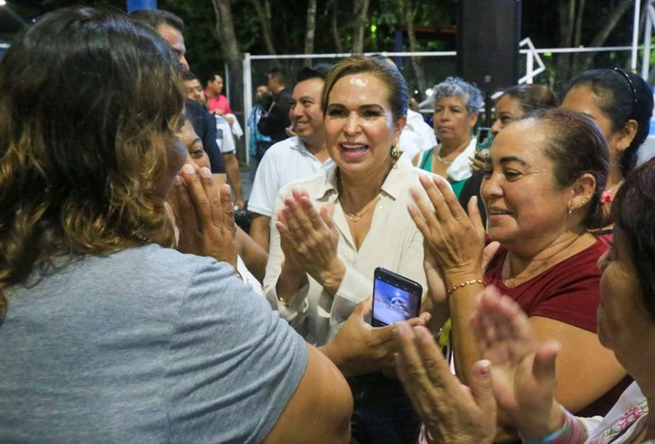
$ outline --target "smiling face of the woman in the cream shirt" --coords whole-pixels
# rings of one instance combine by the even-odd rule
[[[386,85],[369,73],[346,75],[329,92],[325,118],[327,151],[346,176],[386,176],[389,151],[405,126],[394,123]]]

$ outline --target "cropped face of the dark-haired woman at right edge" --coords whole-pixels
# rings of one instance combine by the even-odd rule
[[[630,358],[640,353],[639,348],[652,334],[652,320],[643,304],[639,277],[621,229],[614,230],[612,248],[598,260],[598,268],[603,273],[598,337],[629,367]]]

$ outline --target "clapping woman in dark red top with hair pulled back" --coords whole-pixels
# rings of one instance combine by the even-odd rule
[[[453,355],[465,381],[480,356],[468,320],[476,294],[494,284],[527,312],[540,338],[561,342],[556,397],[568,409],[607,413],[625,388],[626,372],[596,335],[595,264],[608,245],[589,229],[602,223],[607,162],[605,139],[580,113],[540,110],[504,128],[491,147],[481,188],[489,237],[500,243],[486,271],[475,199],[467,216],[447,185],[424,181],[437,211],[419,199],[420,211],[412,213],[426,249],[440,261]]]

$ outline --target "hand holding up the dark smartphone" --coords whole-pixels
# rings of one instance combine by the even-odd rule
[[[346,377],[394,367],[394,325],[372,327],[366,322],[372,307],[372,298],[358,304],[335,338],[320,347]],[[426,325],[429,320],[430,314],[423,312],[406,322],[415,326]]]

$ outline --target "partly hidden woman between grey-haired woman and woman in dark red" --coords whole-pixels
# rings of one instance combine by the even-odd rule
[[[489,132],[495,137],[498,133],[527,113],[536,109],[554,108],[559,105],[555,93],[540,84],[519,84],[508,88],[496,100],[495,120]],[[464,184],[459,195],[459,203],[466,208],[472,196],[477,196],[477,208],[483,221],[487,220],[487,212],[480,196],[480,185],[485,176],[484,159],[476,153],[472,159],[472,175]]]

